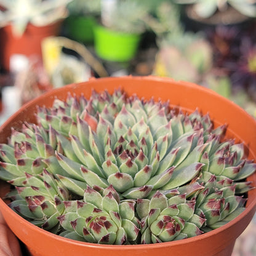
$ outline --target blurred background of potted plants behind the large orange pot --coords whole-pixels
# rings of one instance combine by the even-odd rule
[[[256,0],[0,0],[0,124],[91,77],[195,82],[256,118]],[[256,255],[256,217],[233,256]]]

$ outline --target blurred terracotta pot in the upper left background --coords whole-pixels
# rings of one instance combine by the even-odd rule
[[[36,55],[41,57],[41,41],[48,36],[56,36],[62,20],[47,26],[34,26],[28,23],[22,36],[17,37],[12,33],[12,25],[0,29],[0,66],[4,70],[10,70],[10,57],[14,54],[22,54],[26,57]]]

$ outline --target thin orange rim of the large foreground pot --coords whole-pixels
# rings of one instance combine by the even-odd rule
[[[113,78],[113,77],[108,77],[108,78],[90,78],[89,81],[87,82],[94,82],[96,80],[102,80],[102,81],[108,81],[111,82],[113,80],[118,80],[120,79],[120,82],[123,79],[126,79],[127,81],[132,81],[134,79],[140,81],[140,80],[144,80],[144,81],[163,81],[163,82],[172,82],[172,84],[175,85],[179,85],[182,84],[183,86],[189,87],[189,88],[194,88],[196,87],[198,90],[201,90],[201,92],[205,92],[208,95],[212,95],[212,97],[218,97],[220,98],[222,101],[225,101],[226,103],[230,104],[231,106],[233,106],[233,108],[236,108],[236,110],[238,111],[242,111],[243,114],[246,115],[246,118],[250,119],[250,121],[255,122],[256,125],[256,121],[254,118],[252,118],[252,116],[250,116],[245,110],[243,110],[240,106],[236,105],[235,103],[231,102],[230,100],[228,100],[225,97],[222,97],[221,95],[218,95],[216,92],[214,92],[213,90],[207,89],[206,87],[202,87],[199,86],[197,84],[193,84],[191,82],[186,82],[186,81],[175,81],[174,79],[171,78],[160,78],[160,77],[156,77],[156,76],[122,76],[121,78]],[[86,83],[87,83],[86,82]],[[71,90],[71,94],[73,94],[72,92],[72,88],[76,88],[76,86],[78,86],[79,84],[84,84],[84,82],[82,83],[78,83],[78,84],[70,84],[65,86],[66,88],[70,88]],[[35,102],[37,102],[38,98],[47,98],[47,97],[55,97],[55,94],[58,94],[59,91],[62,90],[63,87],[61,88],[57,88],[57,89],[53,89],[50,90],[49,92],[46,92],[45,94],[34,98],[33,100],[31,100],[30,102],[26,103],[25,105],[22,106],[22,109],[27,108],[30,105],[33,105]],[[96,89],[97,90],[97,89]],[[181,106],[182,108],[182,106]],[[186,111],[186,108],[183,108],[183,110]],[[9,122],[11,122],[13,119],[15,119],[15,116],[18,115],[18,112],[14,113],[12,116],[10,116],[10,118],[8,118],[6,120],[6,122],[4,122],[4,124],[2,124],[2,126],[0,127],[0,133],[1,130],[3,128],[6,128],[7,124],[9,124]],[[239,136],[237,137],[239,138]],[[250,150],[249,150],[250,151]],[[250,152],[252,153],[252,152]],[[254,153],[252,153],[252,155],[255,158]],[[252,176],[256,176],[256,173]],[[256,188],[255,188],[256,189]],[[248,193],[248,197],[250,197],[250,191]],[[90,242],[81,242],[81,241],[76,241],[76,240],[72,240],[72,239],[68,239],[68,238],[63,238],[62,236],[59,236],[57,234],[53,234],[50,233],[49,231],[43,230],[42,228],[39,228],[36,225],[33,225],[32,223],[28,222],[27,220],[25,220],[25,218],[22,218],[20,215],[16,214],[14,212],[14,210],[10,209],[9,206],[7,206],[6,202],[3,201],[2,198],[0,198],[0,210],[4,209],[7,214],[12,215],[12,217],[17,218],[20,222],[20,225],[28,225],[30,227],[31,230],[39,232],[40,234],[46,235],[46,236],[50,236],[53,239],[57,239],[60,241],[65,241],[68,242],[68,244],[77,244],[79,246],[83,246],[83,247],[94,247],[95,249],[111,249],[111,250],[120,250],[120,247],[122,247],[122,250],[131,250],[131,249],[153,249],[153,248],[159,248],[159,247],[166,247],[166,246],[178,246],[181,244],[189,244],[191,242],[196,242],[196,241],[200,241],[202,239],[206,239],[209,238],[210,236],[215,236],[218,233],[221,233],[224,230],[228,230],[228,228],[230,228],[231,226],[233,226],[235,223],[238,223],[242,220],[242,218],[246,217],[246,215],[252,215],[254,214],[254,212],[252,212],[254,209],[256,209],[256,197],[250,202],[250,204],[247,206],[246,205],[246,209],[244,210],[244,212],[242,212],[241,214],[238,215],[238,217],[234,218],[233,220],[231,220],[230,222],[226,223],[225,225],[221,226],[220,228],[217,228],[216,230],[212,230],[209,231],[207,233],[204,234],[200,234],[199,236],[194,236],[192,238],[186,238],[186,239],[182,239],[179,241],[170,241],[170,242],[162,242],[159,244],[137,244],[137,245],[126,245],[126,246],[120,246],[120,245],[107,245],[107,244],[94,244],[94,243],[90,243]]]

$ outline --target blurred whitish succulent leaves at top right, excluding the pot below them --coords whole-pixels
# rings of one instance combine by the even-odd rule
[[[256,1],[254,0],[175,0],[178,4],[193,4],[193,9],[199,17],[209,18],[217,10],[225,11],[228,5],[247,17],[255,17]]]

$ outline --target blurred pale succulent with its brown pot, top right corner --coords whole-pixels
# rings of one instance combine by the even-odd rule
[[[241,23],[256,17],[255,0],[175,0],[188,18],[207,25]]]

